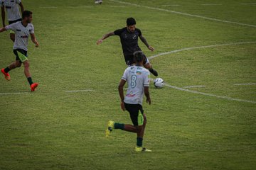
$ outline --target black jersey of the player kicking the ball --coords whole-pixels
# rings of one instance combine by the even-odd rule
[[[141,30],[135,28],[134,33],[130,33],[127,28],[114,31],[114,35],[119,35],[122,44],[122,50],[125,55],[133,55],[136,51],[141,51],[138,45],[138,37],[142,35]]]

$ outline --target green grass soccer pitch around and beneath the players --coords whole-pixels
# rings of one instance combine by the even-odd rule
[[[0,169],[255,169],[256,1],[23,0],[40,47],[28,45],[31,93],[23,67],[0,77]],[[151,83],[144,146],[108,120],[131,123],[117,86],[127,67],[118,36],[126,25],[164,79]],[[0,33],[0,68],[15,60]],[[155,79],[151,75],[152,79]]]

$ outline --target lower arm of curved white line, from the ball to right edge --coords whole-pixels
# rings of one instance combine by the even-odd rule
[[[256,101],[247,101],[247,100],[242,100],[242,99],[239,99],[239,98],[230,98],[230,97],[227,97],[227,96],[218,96],[218,95],[215,95],[215,94],[206,94],[206,93],[199,92],[199,91],[191,91],[191,90],[183,89],[183,88],[180,88],[180,87],[177,87],[177,86],[171,86],[171,85],[166,84],[166,83],[164,83],[164,85],[168,86],[172,89],[176,89],[176,90],[180,90],[180,91],[186,91],[186,92],[190,92],[190,93],[193,93],[193,94],[201,94],[203,96],[212,96],[212,97],[215,97],[215,98],[224,98],[224,99],[228,99],[230,101],[241,101],[241,102],[247,102],[247,103],[256,103]]]

